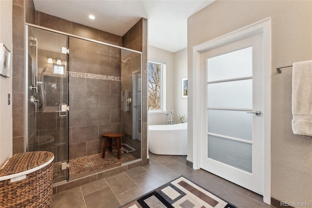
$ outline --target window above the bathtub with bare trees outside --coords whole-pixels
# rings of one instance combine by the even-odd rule
[[[149,112],[165,111],[165,76],[164,62],[148,62],[148,109]]]

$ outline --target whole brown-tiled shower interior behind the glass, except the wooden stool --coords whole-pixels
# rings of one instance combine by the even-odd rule
[[[42,27],[26,28],[26,148],[54,153],[53,182],[141,159],[141,53]],[[117,148],[107,149],[102,158],[102,134],[107,132],[125,133],[120,160]]]

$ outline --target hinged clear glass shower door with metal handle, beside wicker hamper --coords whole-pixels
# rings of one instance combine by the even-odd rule
[[[28,26],[28,151],[54,154],[53,183],[69,180],[68,36]]]

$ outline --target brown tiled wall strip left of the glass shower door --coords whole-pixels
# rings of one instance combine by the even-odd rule
[[[32,0],[13,0],[13,154],[24,152],[24,28],[25,20],[35,23]],[[29,113],[33,114],[34,109]],[[34,126],[30,126],[31,129]]]

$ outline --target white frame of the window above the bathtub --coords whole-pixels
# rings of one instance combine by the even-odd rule
[[[160,109],[148,110],[149,114],[157,114],[166,112],[166,62],[149,59],[148,62],[160,64]]]

